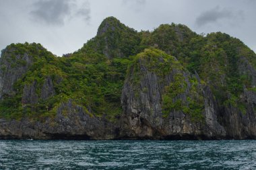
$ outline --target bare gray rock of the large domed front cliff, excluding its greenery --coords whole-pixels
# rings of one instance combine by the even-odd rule
[[[187,89],[177,99],[186,103],[191,95],[190,75],[181,69],[172,69],[164,81],[148,67],[142,59],[139,60],[141,76],[139,86],[133,82],[134,73],[130,73],[125,81],[121,97],[124,115],[121,120],[121,136],[131,138],[224,138],[226,131],[218,123],[218,106],[208,87],[199,84],[197,91],[204,97],[204,120],[194,122],[189,114],[182,111],[172,111],[164,118],[162,115],[162,95],[164,86],[174,82],[174,75],[183,75]],[[170,65],[170,67],[175,67]],[[199,79],[198,75],[196,76]],[[200,82],[200,81],[199,81]],[[175,99],[174,99],[175,100]]]

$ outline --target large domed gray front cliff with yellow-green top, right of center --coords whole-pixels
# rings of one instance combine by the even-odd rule
[[[150,55],[150,51],[142,55]],[[163,62],[162,65],[164,65],[168,59],[164,58],[161,53],[158,55],[152,57],[158,58],[159,62]],[[226,131],[217,121],[218,108],[210,89],[201,85],[198,79],[199,84],[193,91],[192,89],[195,87],[191,83],[191,75],[183,70],[174,58],[172,58],[172,62],[166,63],[171,69],[164,75],[160,75],[150,68],[151,63],[148,60],[153,59],[147,58],[147,56],[139,57],[131,66],[129,70],[131,72],[125,81],[121,98],[125,113],[121,124],[123,127],[121,135],[134,138],[171,138],[177,135],[193,135],[195,138],[223,138]],[[139,77],[136,77],[136,74],[139,74]],[[179,79],[184,82],[177,85],[178,87],[174,87],[172,85],[177,83],[178,75]],[[179,91],[170,103],[179,105],[181,102],[187,107],[174,106],[164,113],[164,109],[166,109],[164,108],[164,97],[168,93],[166,90],[168,87],[171,91]],[[203,98],[201,101],[203,109],[197,113],[199,114],[197,117],[201,117],[201,120],[195,120],[197,117],[189,113],[194,111],[189,103],[191,101],[188,100],[192,100],[190,97],[200,97],[197,96],[199,95],[197,93],[201,93]],[[189,112],[186,112],[186,109]]]

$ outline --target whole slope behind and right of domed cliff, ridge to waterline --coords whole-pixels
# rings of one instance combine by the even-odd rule
[[[183,28],[177,33],[177,28]],[[179,38],[181,35],[182,39]],[[256,55],[243,42],[220,32],[199,36],[182,25],[162,25],[143,43],[177,56],[210,87],[218,103],[218,120],[230,138],[255,136]],[[150,42],[150,43],[148,43]]]

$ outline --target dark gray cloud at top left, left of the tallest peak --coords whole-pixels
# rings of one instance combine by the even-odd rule
[[[38,0],[33,3],[34,9],[30,11],[32,20],[42,24],[63,26],[65,19],[82,17],[90,21],[90,4],[88,1],[78,7],[75,0]]]

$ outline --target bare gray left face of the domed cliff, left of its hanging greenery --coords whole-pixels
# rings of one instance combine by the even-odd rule
[[[146,93],[135,93],[129,78],[123,87],[121,101],[127,122],[121,126],[125,125],[124,129],[132,130],[124,136],[153,136],[154,131],[163,124],[158,77],[154,73],[147,75],[141,81],[141,89],[147,90]]]

